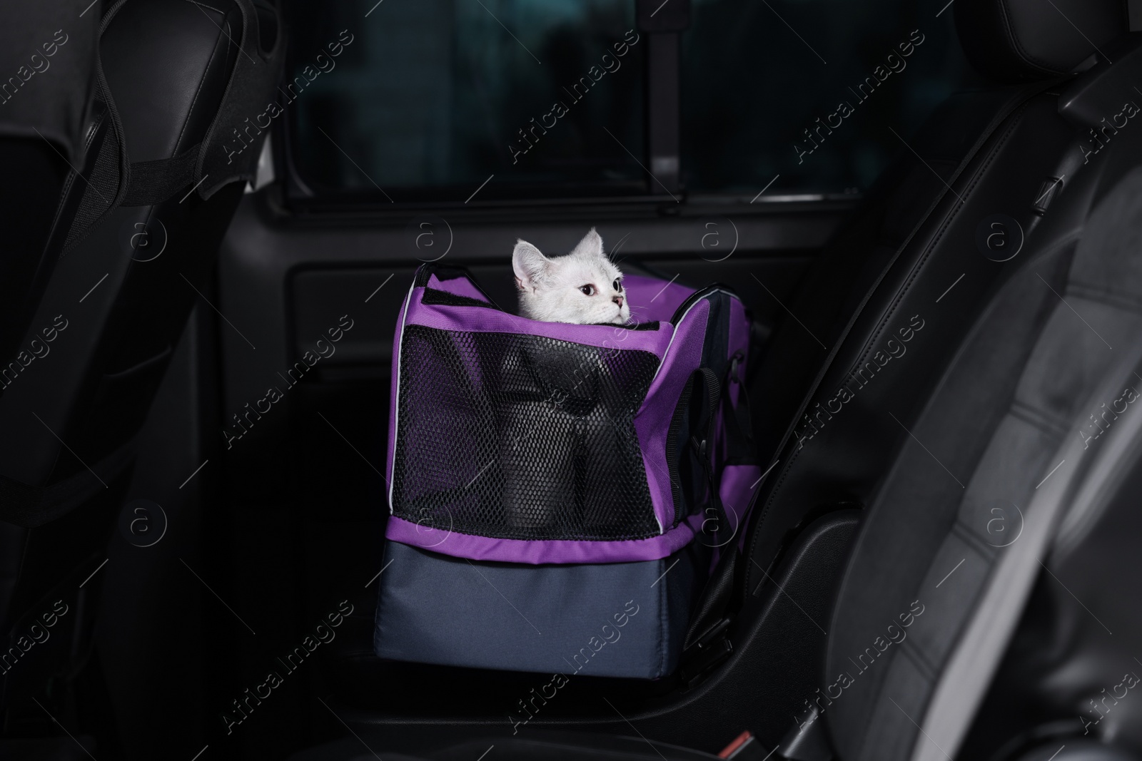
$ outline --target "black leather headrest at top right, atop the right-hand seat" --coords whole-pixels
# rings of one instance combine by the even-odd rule
[[[957,0],[955,10],[967,59],[998,82],[1085,71],[1129,31],[1124,0]]]

